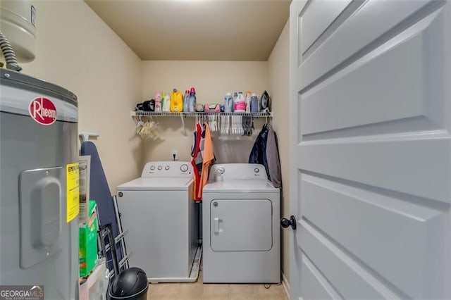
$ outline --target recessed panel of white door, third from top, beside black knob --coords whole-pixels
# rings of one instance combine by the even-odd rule
[[[437,245],[424,241],[446,224],[447,206],[442,206],[442,211],[373,189],[302,177],[304,220],[364,261],[364,268],[383,275],[409,294],[417,292],[409,290],[411,287],[421,289],[424,276],[433,277],[424,266],[433,265],[435,257],[424,254],[433,253]],[[393,261],[397,268],[393,268]]]

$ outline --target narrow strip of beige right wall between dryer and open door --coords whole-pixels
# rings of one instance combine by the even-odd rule
[[[288,198],[288,192],[290,191],[290,161],[289,161],[289,137],[288,126],[290,121],[288,119],[289,109],[289,34],[290,25],[287,22],[283,28],[283,32],[280,34],[278,42],[269,56],[268,69],[269,69],[269,82],[271,85],[271,92],[273,97],[273,127],[277,132],[278,147],[280,155],[280,165],[282,168],[282,211],[283,216],[287,216],[289,211],[290,199]],[[290,230],[282,231],[282,269],[283,273],[290,281],[290,264],[289,264],[289,250],[288,250],[288,234]]]

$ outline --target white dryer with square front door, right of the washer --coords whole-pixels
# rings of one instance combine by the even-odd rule
[[[213,165],[203,190],[204,282],[280,282],[280,190],[263,165]]]

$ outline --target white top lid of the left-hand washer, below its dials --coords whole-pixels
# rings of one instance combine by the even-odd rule
[[[156,190],[186,190],[192,183],[192,178],[145,178],[125,182],[118,190],[156,191]]]

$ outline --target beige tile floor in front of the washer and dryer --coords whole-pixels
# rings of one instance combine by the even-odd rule
[[[268,287],[266,285],[266,287]],[[213,284],[202,282],[157,283],[149,285],[149,300],[288,300],[283,285]]]

